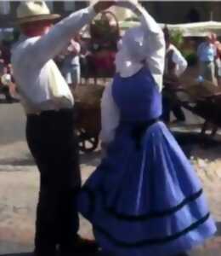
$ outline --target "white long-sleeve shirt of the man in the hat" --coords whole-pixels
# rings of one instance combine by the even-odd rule
[[[73,107],[71,91],[53,58],[95,15],[93,7],[81,9],[59,21],[46,35],[34,38],[23,36],[14,45],[14,79],[26,113]],[[52,87],[56,97],[52,93]]]

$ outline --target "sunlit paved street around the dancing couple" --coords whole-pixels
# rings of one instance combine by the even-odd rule
[[[26,147],[25,116],[20,104],[0,104],[0,118],[0,255],[28,256],[21,253],[33,248],[38,172]],[[209,152],[195,146],[191,153],[207,158],[207,161],[195,159],[194,163],[219,231],[212,241],[190,255],[221,256],[221,146],[209,148]],[[98,163],[99,152],[82,155],[83,179]],[[92,237],[91,227],[84,219],[80,233]]]

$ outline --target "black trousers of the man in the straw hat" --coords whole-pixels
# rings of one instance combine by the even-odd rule
[[[35,253],[71,254],[77,236],[77,192],[81,187],[73,110],[46,111],[29,115],[26,139],[40,172]]]

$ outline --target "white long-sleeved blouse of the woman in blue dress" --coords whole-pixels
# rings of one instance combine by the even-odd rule
[[[141,26],[129,29],[122,38],[116,54],[116,72],[126,78],[146,65],[156,81],[156,86],[161,90],[165,58],[163,32],[146,10],[139,7],[139,14]],[[139,84],[137,85],[139,90]],[[112,96],[112,84],[108,84],[101,100],[100,138],[103,143],[113,140],[119,120],[120,112]]]

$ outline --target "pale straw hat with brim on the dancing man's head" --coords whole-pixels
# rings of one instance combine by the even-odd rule
[[[48,6],[43,1],[21,2],[17,9],[18,24],[29,23],[37,20],[56,20],[60,15],[50,13]]]

